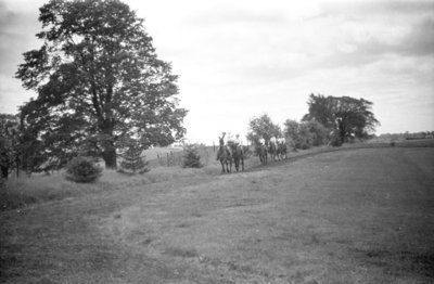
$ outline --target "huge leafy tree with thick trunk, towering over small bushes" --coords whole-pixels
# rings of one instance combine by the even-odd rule
[[[183,135],[178,76],[127,4],[51,0],[39,21],[43,44],[24,53],[16,77],[38,93],[21,108],[23,126],[50,153],[86,145],[115,168],[124,140],[148,147]]]

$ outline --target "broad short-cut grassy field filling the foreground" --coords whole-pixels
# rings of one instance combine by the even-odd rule
[[[433,147],[291,156],[232,175],[213,159],[94,184],[15,181],[37,197],[0,212],[0,280],[433,283]]]

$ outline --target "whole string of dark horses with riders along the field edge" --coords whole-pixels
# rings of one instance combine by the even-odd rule
[[[229,149],[228,149],[229,147]],[[265,144],[256,144],[256,154],[259,156],[261,165],[267,165],[268,155],[272,160],[286,159],[286,143],[266,142]],[[235,143],[225,145],[222,138],[219,138],[219,147],[217,152],[217,160],[221,164],[221,172],[231,172],[232,163],[235,165],[235,170],[239,171],[240,166],[244,171],[244,150]]]

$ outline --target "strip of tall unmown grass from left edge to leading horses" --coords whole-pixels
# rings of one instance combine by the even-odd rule
[[[144,184],[167,182],[177,179],[194,179],[219,175],[219,167],[210,165],[200,169],[181,167],[155,167],[143,175],[124,175],[115,170],[104,170],[94,183],[75,183],[65,179],[64,173],[51,176],[22,176],[5,182],[0,190],[0,210],[16,209],[35,203],[61,201],[87,193],[108,190],[128,190]]]

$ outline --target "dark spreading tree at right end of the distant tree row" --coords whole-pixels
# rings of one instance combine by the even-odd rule
[[[337,139],[337,144],[353,139],[366,139],[378,125],[372,102],[350,96],[324,96],[310,94],[309,113],[303,120],[317,120]]]

